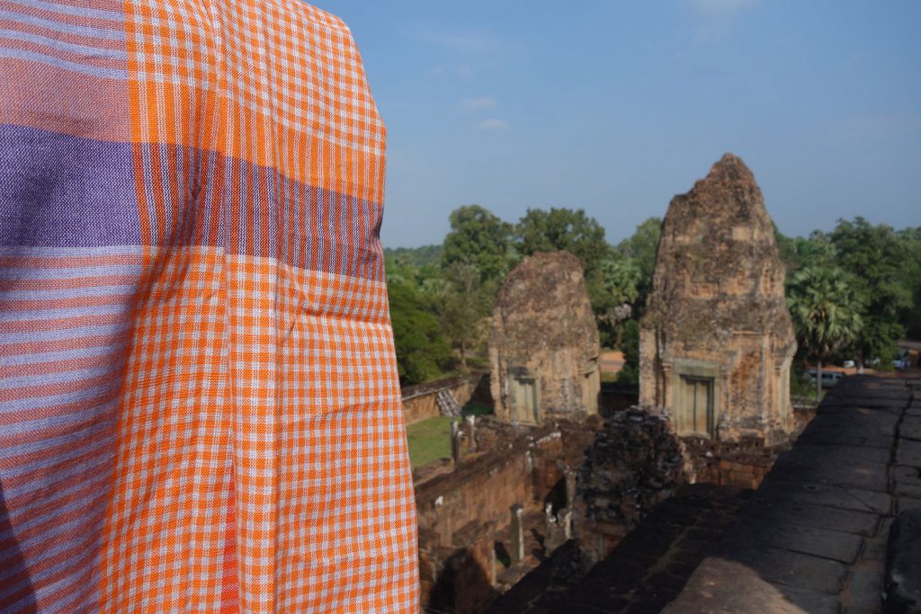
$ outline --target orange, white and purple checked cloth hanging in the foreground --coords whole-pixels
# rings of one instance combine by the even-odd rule
[[[384,128],[299,0],[0,0],[0,611],[414,611]]]

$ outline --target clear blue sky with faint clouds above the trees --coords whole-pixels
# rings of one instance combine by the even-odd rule
[[[629,237],[724,152],[788,235],[921,226],[921,2],[316,0],[388,129],[387,247],[479,203]]]

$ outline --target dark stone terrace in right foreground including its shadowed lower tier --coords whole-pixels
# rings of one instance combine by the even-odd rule
[[[921,522],[887,552],[905,510],[921,510],[921,380],[847,377],[757,491],[686,487],[588,573],[569,542],[488,611],[869,614],[902,550],[918,577],[895,592],[917,608]]]

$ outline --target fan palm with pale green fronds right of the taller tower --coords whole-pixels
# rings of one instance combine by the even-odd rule
[[[836,268],[807,267],[793,277],[787,293],[799,346],[816,359],[815,398],[822,396],[822,359],[851,342],[863,328],[862,304]]]

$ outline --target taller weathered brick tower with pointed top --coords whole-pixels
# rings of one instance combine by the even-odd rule
[[[784,276],[761,190],[727,154],[665,215],[640,324],[640,403],[668,408],[679,434],[785,441],[797,344]]]

